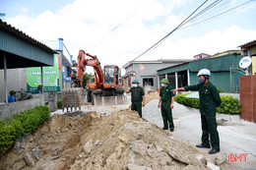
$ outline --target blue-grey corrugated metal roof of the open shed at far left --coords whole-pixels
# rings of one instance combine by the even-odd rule
[[[52,66],[54,50],[0,20],[0,69]]]

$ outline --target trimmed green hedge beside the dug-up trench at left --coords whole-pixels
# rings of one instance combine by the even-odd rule
[[[31,110],[17,113],[11,120],[0,121],[0,155],[49,117],[50,109],[47,106],[36,106]]]

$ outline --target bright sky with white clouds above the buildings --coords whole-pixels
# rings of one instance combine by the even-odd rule
[[[0,0],[1,19],[39,41],[64,38],[76,58],[80,49],[102,64],[123,66],[178,26],[203,0]],[[214,0],[209,0],[203,10]],[[223,0],[193,25],[248,0]],[[222,5],[223,3],[223,5]],[[199,11],[200,11],[199,10]],[[256,39],[256,1],[220,17],[174,31],[138,60],[215,54]],[[117,27],[117,28],[116,28]]]

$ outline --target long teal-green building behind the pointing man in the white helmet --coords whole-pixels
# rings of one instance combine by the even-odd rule
[[[158,77],[159,80],[168,79],[170,85],[177,88],[198,84],[197,73],[201,69],[209,69],[212,72],[210,81],[214,85],[223,88],[225,92],[238,92],[239,76],[245,74],[244,70],[238,68],[241,58],[240,51],[225,51],[211,57],[160,69]]]

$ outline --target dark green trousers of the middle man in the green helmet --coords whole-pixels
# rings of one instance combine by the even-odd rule
[[[163,128],[167,129],[169,125],[170,130],[174,130],[174,124],[172,120],[172,113],[170,109],[170,102],[161,102],[160,112],[163,121]]]

